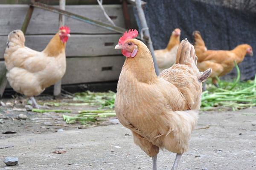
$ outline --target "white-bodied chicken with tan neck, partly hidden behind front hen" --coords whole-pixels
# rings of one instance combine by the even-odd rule
[[[180,44],[180,29],[172,31],[169,43],[165,49],[155,50],[154,54],[157,59],[159,71],[171,67],[176,61],[177,49]]]

